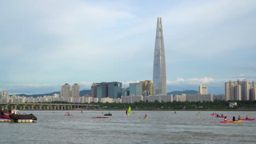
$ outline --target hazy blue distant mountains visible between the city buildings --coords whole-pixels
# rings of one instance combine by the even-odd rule
[[[16,94],[16,95],[20,95],[21,97],[24,96],[24,97],[33,97],[33,98],[36,98],[36,97],[44,97],[44,95],[53,95],[53,94],[60,94],[60,92],[53,92],[53,93],[45,93],[45,94],[32,94],[32,95],[27,95],[27,94]],[[190,91],[173,91],[173,92],[168,92],[167,95],[181,95],[181,94],[197,94],[198,92],[197,91],[194,91],[194,90],[190,90]],[[91,94],[91,89],[84,89],[83,91],[80,91],[80,97],[86,95],[86,94]]]

